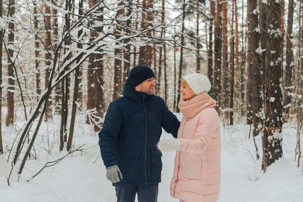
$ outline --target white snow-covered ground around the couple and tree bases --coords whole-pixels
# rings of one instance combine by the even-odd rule
[[[177,114],[181,118],[180,114]],[[116,201],[115,190],[106,179],[106,169],[99,155],[97,134],[84,125],[83,116],[78,116],[75,129],[77,148],[85,144],[82,152],[75,151],[53,167],[36,174],[46,162],[57,160],[67,153],[59,153],[58,131],[60,117],[54,123],[42,125],[36,139],[37,160],[28,160],[19,181],[18,166],[13,170],[10,186],[7,178],[11,165],[7,163],[9,153],[0,156],[0,201]],[[17,124],[22,127],[24,123]],[[33,127],[34,128],[34,127]],[[288,126],[283,130],[283,158],[268,167],[266,174],[261,170],[261,160],[256,160],[252,139],[248,139],[249,126],[239,125],[222,130],[222,184],[220,202],[299,202],[303,201],[302,166],[296,167],[294,148],[296,131]],[[15,128],[3,128],[6,151],[16,136]],[[165,132],[162,139],[172,138]],[[261,139],[257,139],[261,149]],[[49,155],[51,153],[52,155]],[[34,153],[32,153],[34,156]],[[159,188],[159,202],[173,202],[169,185],[173,172],[175,152],[163,154],[162,183]],[[262,154],[260,154],[262,157]],[[10,157],[10,161],[12,156]],[[301,159],[303,162],[303,159]],[[18,162],[20,164],[20,161]]]

